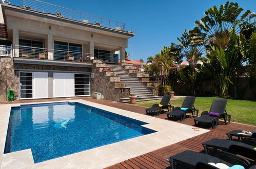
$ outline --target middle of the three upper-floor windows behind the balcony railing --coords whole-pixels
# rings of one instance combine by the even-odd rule
[[[54,60],[67,60],[66,53],[74,56],[74,61],[82,57],[82,45],[64,41],[54,41]]]

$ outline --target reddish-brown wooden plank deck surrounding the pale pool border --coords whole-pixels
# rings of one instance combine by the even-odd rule
[[[74,97],[71,99],[84,99],[87,101],[92,101],[104,105],[108,105],[110,107],[123,109],[132,111],[135,113],[145,114],[145,107],[141,107],[138,105],[131,105],[131,104],[125,104],[120,102],[112,102],[109,100],[95,100],[90,97]],[[58,100],[67,100],[65,98],[54,98],[54,99],[37,99],[37,100],[22,100],[22,101],[15,101],[13,103],[26,103],[26,102],[38,102],[38,101],[58,101]],[[0,104],[7,103],[2,102]],[[8,102],[10,103],[10,102]],[[166,114],[161,114],[159,116],[154,116],[155,118],[162,118],[166,119]],[[167,119],[166,119],[167,120]],[[232,120],[232,117],[231,117]],[[186,120],[179,123],[187,124],[187,125],[193,125],[194,121],[193,118],[187,118]],[[196,152],[202,152],[204,153],[204,149],[202,146],[202,143],[210,140],[212,138],[221,138],[221,139],[227,139],[226,133],[232,130],[248,130],[248,131],[256,131],[256,126],[252,125],[246,125],[246,124],[240,124],[240,123],[234,123],[231,122],[229,125],[220,124],[218,125],[217,129],[211,130],[208,133],[192,137],[186,140],[183,140],[181,142],[168,145],[166,147],[163,147],[162,149],[155,150],[149,153],[146,153],[144,155],[128,159],[126,161],[117,163],[115,165],[109,166],[107,168],[169,168],[170,163],[166,161],[167,158],[169,158],[172,155],[181,153],[186,150],[196,151]],[[171,133],[170,133],[171,135]],[[176,168],[183,168],[182,166],[177,166]]]

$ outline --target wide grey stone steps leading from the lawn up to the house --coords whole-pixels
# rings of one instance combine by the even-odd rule
[[[130,76],[122,66],[106,64],[106,67],[112,69],[121,82],[125,82],[126,87],[130,88],[130,94],[137,96],[137,101],[162,99],[162,96],[154,96],[139,78]],[[129,102],[130,99],[121,98],[120,101]]]

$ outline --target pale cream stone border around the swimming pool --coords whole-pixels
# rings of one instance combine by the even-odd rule
[[[43,101],[43,102],[28,102],[18,104],[1,104],[0,105],[0,164],[1,168],[103,168],[113,164],[125,161],[127,159],[143,155],[145,153],[161,149],[167,145],[183,141],[185,139],[198,136],[209,132],[209,130],[201,129],[200,131],[192,130],[192,126],[159,119],[143,114],[134,113],[122,109],[109,107],[107,105],[94,103],[82,99],[72,99],[68,102],[80,102],[88,104],[95,108],[100,108],[115,114],[123,115],[135,120],[147,122],[144,124],[148,129],[157,132],[148,135],[135,137],[120,142],[107,144],[96,147],[94,149],[70,154],[67,156],[43,161],[34,164],[33,156],[30,149],[3,154],[5,141],[10,117],[11,107],[20,106],[23,104],[40,104],[52,102],[67,102],[60,101]]]

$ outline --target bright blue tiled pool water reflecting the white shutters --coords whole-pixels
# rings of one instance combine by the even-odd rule
[[[143,124],[82,103],[22,105],[11,109],[5,153],[31,149],[37,163],[155,132]]]

